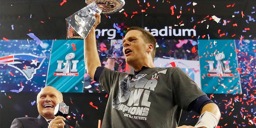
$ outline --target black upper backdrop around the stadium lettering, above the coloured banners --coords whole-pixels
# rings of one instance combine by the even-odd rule
[[[41,40],[66,39],[68,16],[84,8],[84,0],[1,0],[0,38],[24,39],[34,33]],[[98,29],[113,24],[196,30],[196,36],[166,36],[166,39],[255,39],[255,0],[125,0],[122,12],[101,14]],[[172,9],[173,8],[173,14]],[[214,21],[212,16],[220,18]],[[209,37],[208,37],[209,35]],[[203,38],[203,36],[206,36]],[[107,37],[101,37],[106,39]],[[119,37],[121,38],[121,37]],[[156,38],[163,38],[156,36]]]

